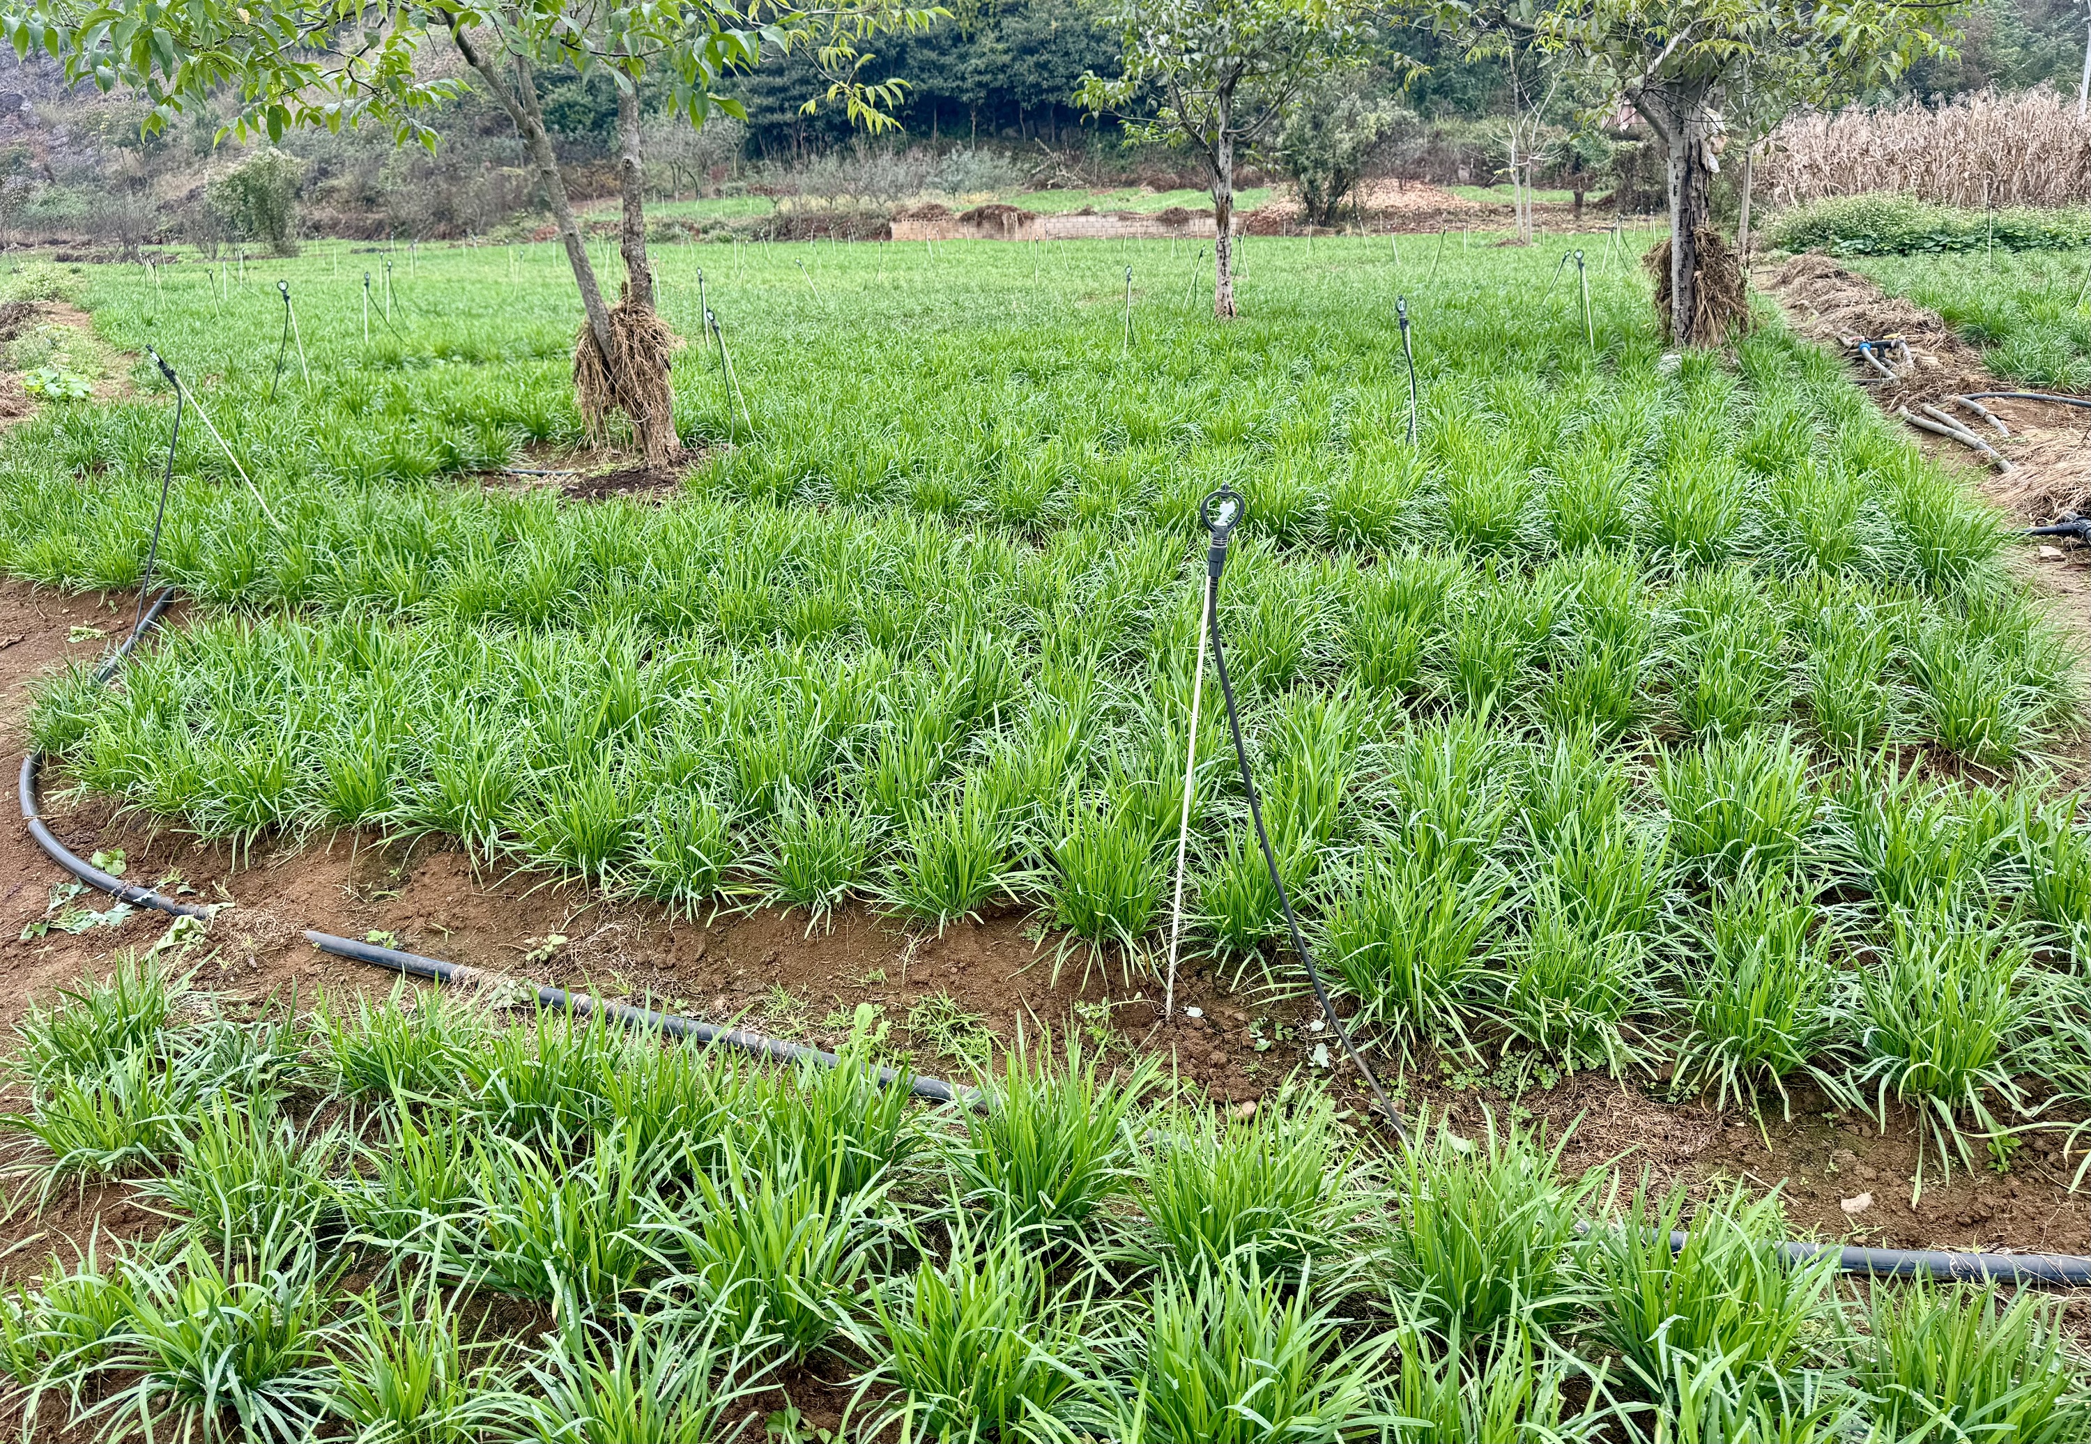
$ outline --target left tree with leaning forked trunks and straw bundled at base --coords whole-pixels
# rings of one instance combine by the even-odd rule
[[[703,125],[713,111],[738,115],[719,94],[730,73],[755,67],[765,48],[811,48],[828,77],[824,98],[851,121],[889,125],[899,86],[857,79],[870,59],[857,42],[933,15],[907,0],[834,0],[832,8],[786,0],[31,0],[10,19],[10,38],[21,54],[48,50],[63,61],[67,79],[148,98],[148,132],[232,100],[226,132],[243,138],[372,121],[391,125],[401,144],[433,150],[435,107],[468,84],[485,88],[529,150],[581,293],[573,351],[581,414],[600,433],[621,412],[659,466],[677,447],[667,380],[675,336],[654,311],[646,257],[640,81],[665,79],[673,111]],[[625,286],[615,305],[590,263],[544,123],[537,75],[554,67],[608,75],[617,88]]]

